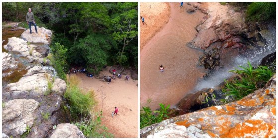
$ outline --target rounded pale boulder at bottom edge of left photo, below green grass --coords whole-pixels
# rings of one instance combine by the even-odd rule
[[[66,123],[57,125],[50,138],[86,138],[77,126]]]

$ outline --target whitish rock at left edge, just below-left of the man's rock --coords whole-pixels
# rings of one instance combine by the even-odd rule
[[[20,53],[23,57],[29,56],[29,48],[27,47],[27,41],[12,37],[8,39],[9,42],[7,45],[4,45],[4,48],[11,52]]]

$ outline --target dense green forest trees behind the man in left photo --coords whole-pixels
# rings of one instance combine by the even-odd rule
[[[51,46],[59,43],[67,50],[59,56],[66,59],[64,72],[70,66],[95,74],[104,65],[138,68],[136,2],[4,2],[2,7],[3,21],[22,22],[28,28],[26,13],[31,8],[37,26],[53,31]]]

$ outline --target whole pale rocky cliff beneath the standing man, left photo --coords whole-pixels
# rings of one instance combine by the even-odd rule
[[[66,83],[42,65],[47,61],[52,32],[45,28],[38,32],[26,30],[21,35],[25,40],[12,37],[4,46],[9,51],[2,53],[5,137],[49,137],[54,125],[70,122],[63,99]],[[48,84],[53,87],[49,89]]]

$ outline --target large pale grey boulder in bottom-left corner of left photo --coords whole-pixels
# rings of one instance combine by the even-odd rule
[[[32,127],[36,119],[33,113],[38,108],[39,102],[27,99],[8,101],[3,108],[3,133],[8,136],[20,137],[27,125]]]

